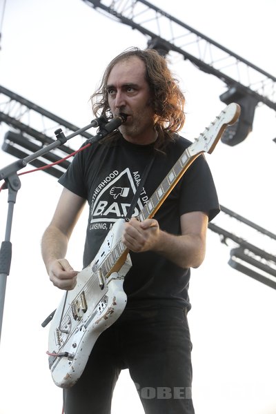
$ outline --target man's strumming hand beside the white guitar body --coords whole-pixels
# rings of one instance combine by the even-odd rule
[[[49,268],[48,273],[52,284],[59,289],[72,290],[77,284],[77,272],[70,266],[66,259],[54,260]]]

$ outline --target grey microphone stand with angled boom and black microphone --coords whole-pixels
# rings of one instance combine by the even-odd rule
[[[8,188],[8,214],[6,220],[6,233],[5,239],[1,244],[0,248],[0,340],[1,340],[1,329],[2,329],[2,321],[3,321],[3,309],[5,304],[5,295],[6,295],[6,283],[7,277],[10,274],[10,264],[12,261],[12,244],[10,242],[10,235],[12,230],[12,217],[14,211],[14,204],[17,199],[18,190],[21,188],[21,182],[17,175],[17,171],[21,170],[21,168],[26,167],[28,163],[41,157],[41,155],[50,152],[51,150],[63,145],[76,135],[81,134],[81,132],[88,130],[92,127],[99,127],[99,132],[94,137],[88,139],[89,144],[93,144],[103,137],[106,137],[110,132],[117,129],[124,121],[126,121],[126,115],[121,114],[114,117],[111,121],[106,123],[105,117],[99,117],[91,121],[91,123],[79,130],[73,132],[72,134],[66,137],[61,128],[55,131],[55,135],[57,137],[57,141],[52,142],[48,146],[41,148],[40,150],[34,152],[28,157],[23,159],[19,159],[12,164],[0,169],[0,180],[4,179],[6,181],[6,188]]]

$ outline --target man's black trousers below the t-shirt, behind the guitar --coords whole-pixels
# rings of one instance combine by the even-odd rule
[[[126,309],[97,339],[77,384],[63,390],[65,414],[110,414],[124,368],[146,414],[194,414],[191,348],[185,310]]]

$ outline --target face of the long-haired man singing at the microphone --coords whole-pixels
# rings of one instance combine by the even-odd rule
[[[150,144],[157,139],[145,71],[141,59],[130,57],[112,68],[106,86],[112,115],[119,112],[128,115],[119,130],[127,141],[135,144]]]

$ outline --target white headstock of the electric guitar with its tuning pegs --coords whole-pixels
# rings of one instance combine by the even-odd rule
[[[237,103],[229,103],[224,110],[222,110],[215,121],[211,122],[210,126],[202,132],[195,142],[189,147],[193,147],[193,152],[199,154],[200,152],[208,152],[211,154],[221,138],[224,130],[228,125],[235,124],[239,118],[241,108]]]

